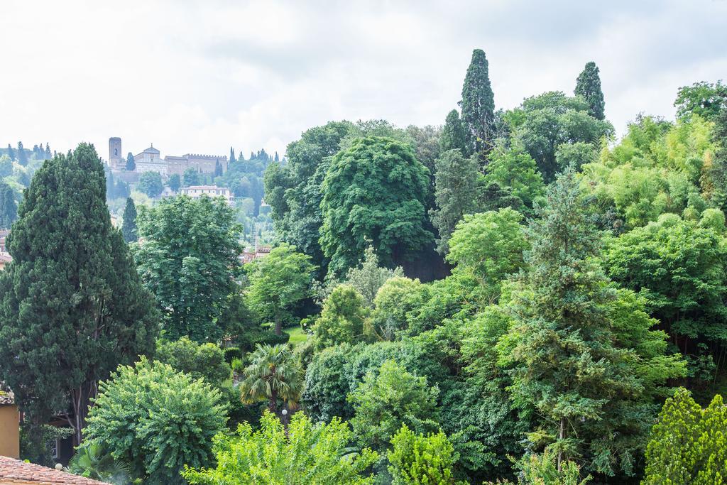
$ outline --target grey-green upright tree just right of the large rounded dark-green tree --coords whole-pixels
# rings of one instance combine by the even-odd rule
[[[432,225],[439,233],[437,251],[449,252],[449,237],[462,216],[478,212],[478,157],[465,157],[462,151],[442,153],[435,162],[435,203],[430,209]]]

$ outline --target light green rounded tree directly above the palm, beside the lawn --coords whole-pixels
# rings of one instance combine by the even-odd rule
[[[310,294],[310,282],[316,268],[310,256],[282,243],[268,257],[246,265],[249,278],[247,302],[262,321],[274,325],[281,334],[284,324],[291,324],[302,300]]]

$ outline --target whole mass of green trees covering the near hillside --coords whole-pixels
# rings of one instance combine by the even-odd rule
[[[494,94],[476,49],[441,127],[303,132],[244,265],[227,201],[118,231],[91,145],[45,161],[0,273],[25,457],[55,417],[114,484],[723,483],[727,87],[621,137],[593,62]]]

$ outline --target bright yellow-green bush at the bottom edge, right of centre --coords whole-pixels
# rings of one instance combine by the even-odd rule
[[[387,452],[393,485],[450,485],[454,484],[452,468],[457,453],[446,435],[416,434],[406,425],[391,438],[393,449]]]

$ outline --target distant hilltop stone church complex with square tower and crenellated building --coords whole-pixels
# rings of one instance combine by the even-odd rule
[[[108,139],[108,166],[116,171],[126,169],[126,159],[121,155],[121,138]],[[164,177],[172,174],[184,175],[188,169],[200,174],[225,173],[228,169],[228,158],[225,155],[200,155],[186,153],[182,156],[168,155],[164,158],[152,144],[149,148],[134,155],[134,172],[158,172]]]

